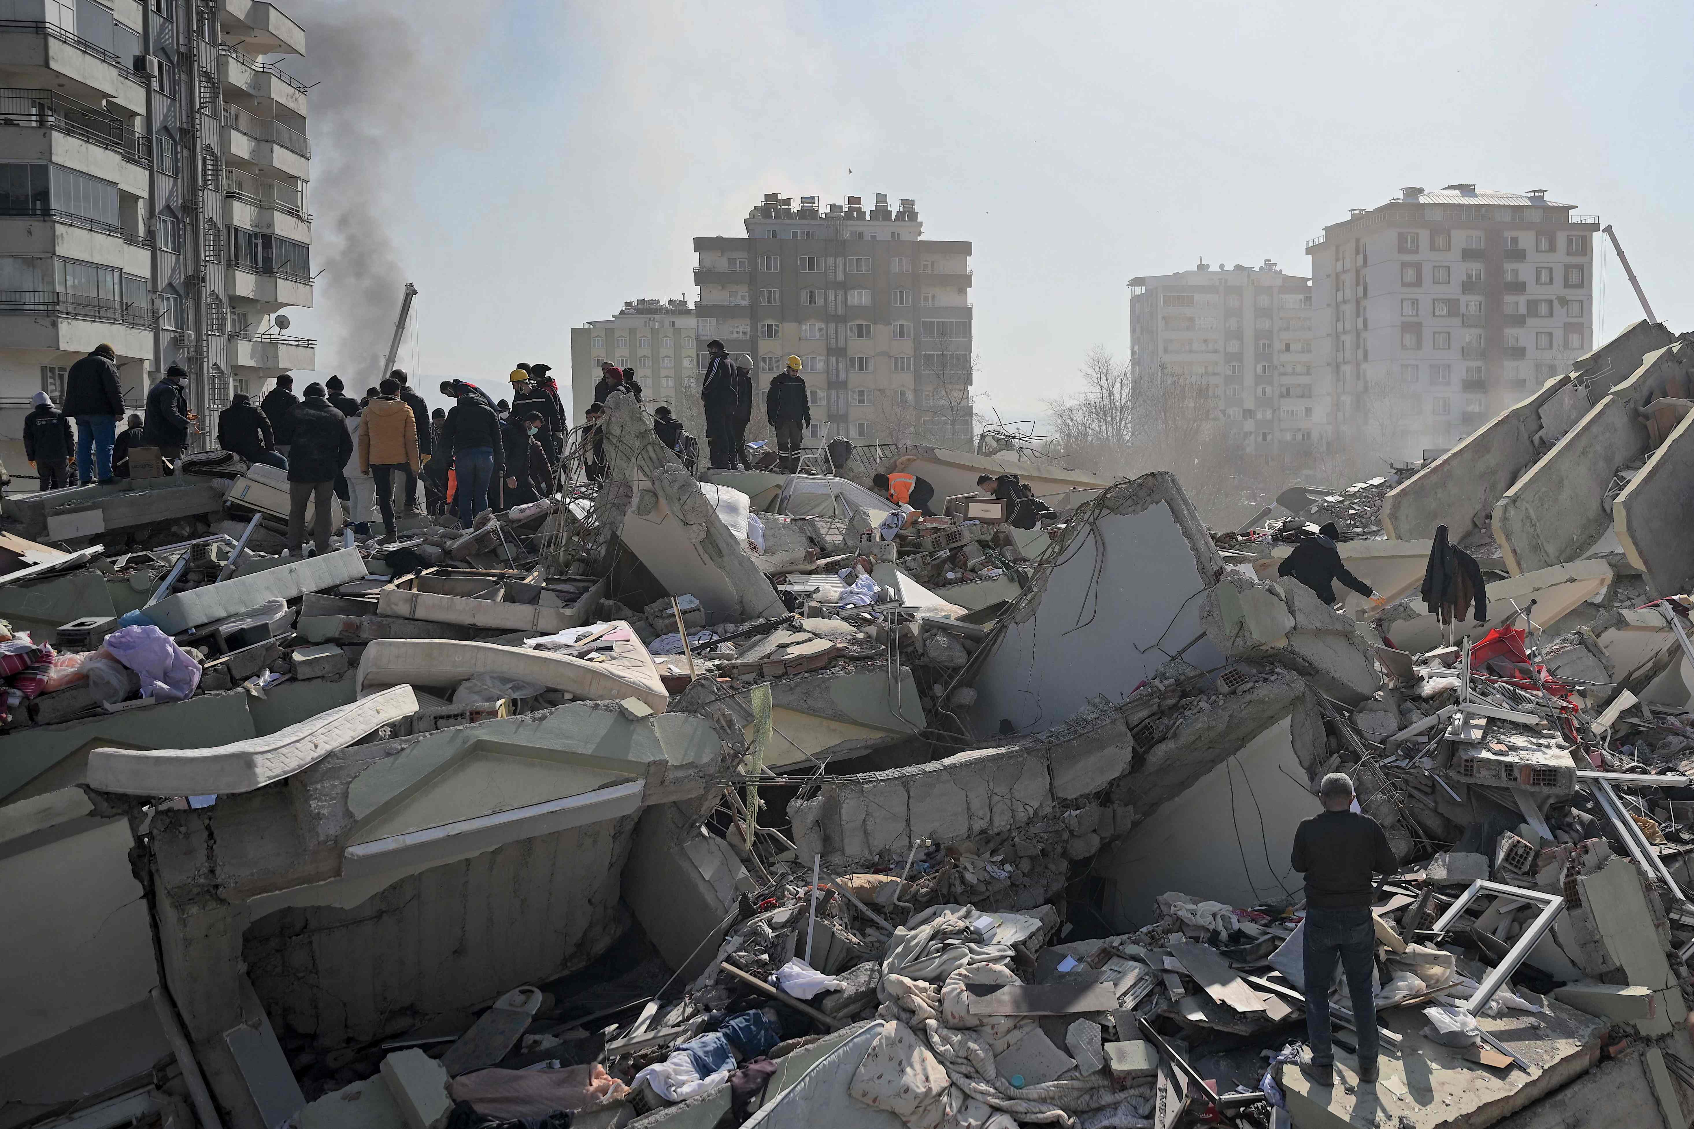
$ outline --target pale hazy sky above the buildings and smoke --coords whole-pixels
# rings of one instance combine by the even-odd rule
[[[696,298],[691,239],[742,234],[764,191],[915,196],[927,235],[971,240],[977,410],[1008,420],[1128,349],[1128,278],[1308,274],[1306,239],[1403,184],[1599,213],[1694,328],[1686,2],[283,7],[320,80],[325,273],[291,332],[324,371],[374,372],[403,281],[408,367],[566,369],[571,325]],[[1609,247],[1599,278],[1604,337],[1640,315]]]

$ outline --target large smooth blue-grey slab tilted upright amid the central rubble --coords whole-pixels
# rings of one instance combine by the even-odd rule
[[[1221,560],[1176,476],[1120,482],[1099,504],[1098,520],[1071,525],[1060,564],[1006,613],[994,650],[977,655],[976,733],[1003,723],[1033,733],[1099,694],[1121,699],[1189,643],[1187,662],[1221,665],[1199,623]]]

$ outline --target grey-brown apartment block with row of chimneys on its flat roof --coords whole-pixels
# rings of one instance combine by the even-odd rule
[[[898,203],[766,193],[745,235],[695,240],[698,340],[749,354],[761,389],[800,357],[810,443],[971,443],[971,244],[923,239]]]

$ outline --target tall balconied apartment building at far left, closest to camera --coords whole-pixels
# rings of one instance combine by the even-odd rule
[[[313,367],[305,32],[263,0],[0,0],[0,449],[100,342],[141,408],[173,364],[203,435]],[[15,472],[15,471],[14,471]]]

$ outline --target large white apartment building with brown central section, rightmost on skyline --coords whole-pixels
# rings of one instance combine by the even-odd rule
[[[1308,240],[1337,437],[1445,450],[1594,347],[1594,234],[1547,190],[1403,188]]]

